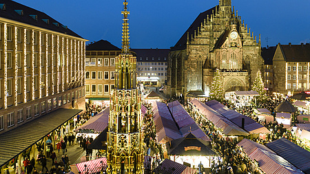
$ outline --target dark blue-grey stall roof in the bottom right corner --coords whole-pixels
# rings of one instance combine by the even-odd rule
[[[269,149],[276,152],[285,160],[298,167],[304,173],[310,173],[310,152],[290,142],[286,138],[280,138],[266,144]]]

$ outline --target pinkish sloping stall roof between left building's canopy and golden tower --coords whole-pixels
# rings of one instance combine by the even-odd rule
[[[90,118],[87,122],[78,127],[76,131],[80,129],[92,129],[95,132],[102,132],[106,127],[109,120],[110,107],[105,108],[103,111],[96,114],[96,116]]]

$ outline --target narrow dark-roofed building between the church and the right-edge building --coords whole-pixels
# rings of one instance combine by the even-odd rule
[[[262,48],[262,58],[265,61],[265,69],[262,71],[262,77],[264,78],[264,85],[267,94],[272,94],[273,92],[273,66],[272,59],[276,52],[276,47],[263,47]]]

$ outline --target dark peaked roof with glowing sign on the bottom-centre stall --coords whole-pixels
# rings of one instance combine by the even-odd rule
[[[209,142],[196,138],[192,132],[183,138],[166,143],[169,155],[216,155],[208,145]]]

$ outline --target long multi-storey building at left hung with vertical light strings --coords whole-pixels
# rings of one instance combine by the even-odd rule
[[[47,14],[0,3],[0,134],[59,108],[85,109],[85,39]]]

